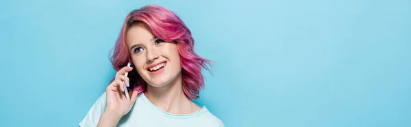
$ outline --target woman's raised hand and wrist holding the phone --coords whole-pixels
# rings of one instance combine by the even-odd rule
[[[126,84],[129,84],[129,78],[124,74],[132,70],[132,67],[121,68],[121,70],[116,73],[114,81],[105,89],[107,96],[105,111],[101,114],[97,126],[116,126],[121,117],[132,109],[138,93],[137,91],[129,91],[131,98],[127,100],[123,89]]]

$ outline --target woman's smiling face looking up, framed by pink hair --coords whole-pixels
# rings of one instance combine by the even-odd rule
[[[126,37],[134,68],[149,85],[162,87],[181,76],[175,42],[160,40],[142,23],[132,25]]]

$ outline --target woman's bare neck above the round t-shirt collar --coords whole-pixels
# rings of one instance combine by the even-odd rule
[[[162,87],[147,85],[145,96],[155,107],[167,113],[188,114],[197,111],[199,107],[186,97],[182,83],[182,76],[179,74],[171,83]]]

